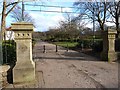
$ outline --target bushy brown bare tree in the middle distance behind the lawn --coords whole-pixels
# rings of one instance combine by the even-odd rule
[[[60,22],[60,31],[62,35],[60,35],[63,38],[68,39],[78,39],[80,36],[80,33],[82,33],[82,29],[85,26],[85,23],[82,22],[82,15],[79,15],[79,19],[73,16],[70,13],[64,14],[65,21]]]

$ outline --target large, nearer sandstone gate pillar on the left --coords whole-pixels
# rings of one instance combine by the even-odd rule
[[[35,64],[32,60],[31,23],[19,22],[12,24],[16,42],[17,61],[13,68],[13,83],[28,83],[35,80]]]

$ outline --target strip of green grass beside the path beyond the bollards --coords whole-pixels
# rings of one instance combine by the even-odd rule
[[[53,44],[62,46],[62,47],[67,47],[68,45],[68,48],[73,48],[77,46],[78,42],[54,42]]]

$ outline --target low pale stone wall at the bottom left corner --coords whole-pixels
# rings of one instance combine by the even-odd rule
[[[7,71],[10,68],[8,65],[0,66],[0,89],[7,86]]]

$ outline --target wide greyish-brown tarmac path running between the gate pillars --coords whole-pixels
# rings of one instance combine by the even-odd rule
[[[43,53],[43,46],[46,51]],[[66,51],[38,41],[33,49],[36,63],[34,85],[14,88],[118,88],[118,63],[108,63],[73,50]]]

